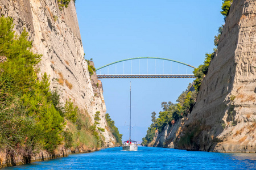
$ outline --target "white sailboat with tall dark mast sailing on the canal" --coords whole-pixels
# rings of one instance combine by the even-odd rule
[[[131,141],[131,82],[130,82],[130,137],[129,140],[123,142],[123,151],[137,151],[137,141]]]

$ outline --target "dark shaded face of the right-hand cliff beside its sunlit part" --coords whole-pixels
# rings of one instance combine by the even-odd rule
[[[214,151],[214,148],[225,139],[225,135],[221,135],[225,128],[237,124],[234,120],[235,105],[232,99],[227,99],[226,96],[233,89],[236,75],[235,50],[238,45],[240,20],[243,13],[243,8],[239,6],[243,3],[243,1],[234,1],[230,7],[230,14],[226,18],[217,55],[214,55],[209,65],[208,73],[211,73],[205,76],[201,84],[196,109],[193,108],[194,111],[185,118],[184,125],[181,125],[181,130],[177,131],[175,148],[190,151]],[[216,69],[217,66],[219,70]],[[217,83],[214,83],[216,79]],[[215,87],[212,87],[212,84],[216,84]],[[209,98],[212,100],[208,101]]]

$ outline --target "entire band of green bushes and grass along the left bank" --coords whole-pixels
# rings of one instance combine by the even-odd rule
[[[86,111],[71,100],[60,103],[57,90],[49,90],[49,76],[41,80],[36,64],[41,55],[23,31],[15,36],[11,18],[0,18],[0,150],[11,159],[22,154],[30,162],[40,150],[53,153],[57,146],[101,147],[100,132],[90,125]],[[65,128],[65,130],[64,130]]]

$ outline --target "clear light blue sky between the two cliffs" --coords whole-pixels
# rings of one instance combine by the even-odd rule
[[[221,0],[94,0],[76,1],[85,58],[93,58],[96,69],[133,57],[161,57],[199,66],[205,53],[213,52],[214,36],[224,24]],[[133,73],[155,73],[155,60],[133,61]],[[148,69],[147,69],[148,62]],[[123,74],[123,63],[117,64]],[[131,61],[125,74],[131,74]],[[188,72],[187,72],[188,69]],[[147,71],[148,70],[148,71]],[[179,71],[180,70],[180,71]],[[171,72],[172,71],[172,72]],[[103,69],[101,74],[107,74]],[[109,67],[115,74],[115,65]],[[163,62],[156,61],[163,74]],[[164,74],[192,73],[186,66],[164,62]],[[97,74],[100,74],[97,72]],[[162,110],[162,101],[175,103],[193,79],[101,79],[107,113],[129,138],[129,86],[132,83],[132,139],[141,141],[151,124],[151,113]]]

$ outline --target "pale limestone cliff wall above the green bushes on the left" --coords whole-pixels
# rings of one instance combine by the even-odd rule
[[[1,0],[0,11],[14,19],[17,34],[24,28],[28,31],[32,50],[43,55],[40,72],[50,76],[51,89],[61,92],[61,101],[71,99],[82,113],[89,114],[92,124],[94,114],[100,111],[98,126],[105,129],[105,146],[114,146],[115,139],[105,120],[102,86],[93,87],[84,59],[74,2],[60,10],[57,0]]]

